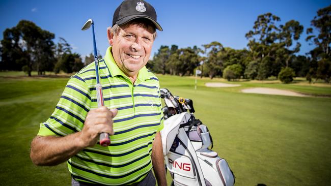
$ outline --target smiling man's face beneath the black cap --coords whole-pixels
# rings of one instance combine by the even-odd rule
[[[147,64],[153,42],[153,28],[139,24],[122,26],[116,36],[111,34],[109,38],[117,66],[129,77],[136,77]]]

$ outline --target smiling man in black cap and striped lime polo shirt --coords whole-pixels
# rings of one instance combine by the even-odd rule
[[[30,157],[36,165],[67,161],[72,185],[166,185],[159,131],[158,79],[146,69],[156,29],[154,8],[124,1],[107,29],[112,45],[99,61],[103,107],[97,108],[94,63],[72,76],[51,117],[41,123]],[[110,110],[109,110],[110,109]],[[111,134],[111,145],[98,142]]]

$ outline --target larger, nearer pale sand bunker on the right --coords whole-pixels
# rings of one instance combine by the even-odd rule
[[[276,88],[246,88],[241,90],[244,93],[264,94],[264,95],[282,95],[282,96],[298,96],[308,97],[307,95],[299,94],[290,90],[281,90]]]

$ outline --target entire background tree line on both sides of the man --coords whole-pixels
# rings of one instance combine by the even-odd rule
[[[162,45],[147,64],[154,73],[193,75],[200,70],[201,77],[216,76],[230,80],[258,79],[271,76],[283,82],[293,77],[306,77],[309,81],[331,80],[331,6],[317,11],[306,29],[306,41],[315,48],[306,55],[297,55],[298,42],[304,32],[296,20],[281,24],[280,17],[271,13],[259,15],[252,30],[245,34],[247,48],[233,49],[214,41],[200,47],[178,48]],[[46,71],[72,73],[87,64],[80,54],[64,39],[54,43],[55,35],[35,23],[21,20],[15,27],[4,31],[0,45],[0,70],[23,70],[29,76]],[[101,56],[99,56],[101,58]],[[94,61],[93,54],[85,56],[86,63]]]

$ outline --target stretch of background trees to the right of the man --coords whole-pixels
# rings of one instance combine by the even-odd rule
[[[306,55],[296,55],[304,32],[296,20],[280,24],[280,17],[271,13],[259,15],[253,29],[245,34],[247,49],[236,50],[214,41],[201,48],[161,46],[147,64],[155,73],[193,75],[202,71],[201,77],[215,76],[237,80],[278,77],[282,82],[293,77],[306,77],[309,81],[331,77],[331,6],[320,9],[306,29],[306,41],[316,47]]]

